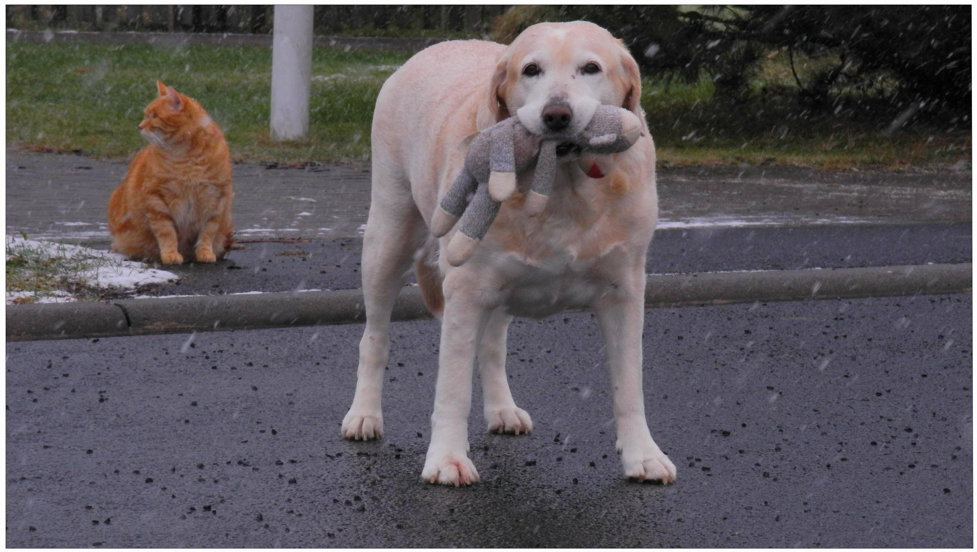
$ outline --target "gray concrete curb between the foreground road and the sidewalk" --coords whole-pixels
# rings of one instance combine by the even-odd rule
[[[648,276],[646,308],[971,293],[973,265]],[[362,292],[306,291],[7,306],[7,340],[67,339],[361,322]],[[393,319],[431,318],[405,287]]]

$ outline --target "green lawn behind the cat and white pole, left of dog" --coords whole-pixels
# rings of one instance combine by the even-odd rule
[[[207,109],[235,160],[361,161],[369,156],[380,86],[409,57],[316,49],[310,136],[273,144],[268,48],[8,42],[7,141],[29,149],[128,156],[146,145],[136,127],[158,79]]]

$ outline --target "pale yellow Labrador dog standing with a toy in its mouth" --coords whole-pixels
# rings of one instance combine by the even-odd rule
[[[372,204],[363,236],[366,329],[357,389],[342,434],[383,434],[380,397],[390,354],[390,317],[411,263],[422,295],[441,320],[431,444],[421,477],[468,485],[473,368],[482,375],[488,431],[525,434],[530,414],[512,399],[505,374],[506,330],[514,316],[566,309],[596,313],[614,387],[617,451],[624,475],[675,479],[652,440],[642,393],[645,252],[658,220],[655,146],[639,106],[638,67],[619,40],[592,23],[540,23],[505,47],[452,41],[411,58],[383,85],[373,114]],[[428,230],[439,197],[464,164],[466,137],[512,115],[531,131],[573,132],[599,105],[623,106],[644,136],[616,154],[604,178],[558,165],[545,210],[523,213],[531,174],[506,201],[485,239],[460,267],[448,265]]]

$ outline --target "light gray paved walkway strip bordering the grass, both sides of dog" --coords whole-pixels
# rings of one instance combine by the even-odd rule
[[[108,196],[124,160],[7,149],[7,232],[108,242]],[[662,230],[969,223],[967,172],[826,172],[794,167],[658,171]],[[369,208],[369,167],[234,165],[234,227],[247,238],[350,238]]]

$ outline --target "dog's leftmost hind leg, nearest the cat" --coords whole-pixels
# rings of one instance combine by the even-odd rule
[[[342,435],[347,439],[383,436],[381,395],[383,371],[390,357],[390,315],[413,253],[427,235],[406,179],[384,174],[393,171],[382,163],[374,162],[373,167],[361,266],[366,327],[360,341],[356,395],[343,418]]]

